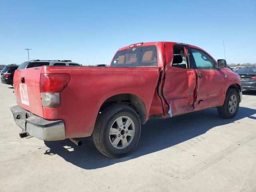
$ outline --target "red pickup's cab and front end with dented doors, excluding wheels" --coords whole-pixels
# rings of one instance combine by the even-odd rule
[[[229,86],[236,88],[242,99],[240,77],[225,68],[226,63],[220,67],[210,54],[197,46],[176,42],[132,44],[120,48],[110,66],[160,68],[164,73],[162,103],[169,108],[163,116],[221,106]]]

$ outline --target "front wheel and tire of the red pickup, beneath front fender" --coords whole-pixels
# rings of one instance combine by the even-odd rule
[[[240,98],[236,89],[227,90],[224,104],[218,107],[218,114],[225,119],[233,118],[238,112]]]

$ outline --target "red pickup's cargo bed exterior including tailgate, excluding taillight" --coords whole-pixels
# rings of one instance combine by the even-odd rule
[[[63,120],[66,138],[85,137],[92,134],[102,104],[116,94],[139,96],[144,102],[147,116],[159,73],[158,67],[42,66],[17,70],[14,90],[17,104],[25,110],[46,120]],[[70,74],[70,82],[60,93],[60,106],[42,106],[41,74]]]

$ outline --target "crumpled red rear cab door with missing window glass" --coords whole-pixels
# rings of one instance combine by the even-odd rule
[[[176,116],[194,110],[196,73],[191,68],[172,66],[174,43],[166,43],[166,66],[163,94],[169,104],[168,114]]]

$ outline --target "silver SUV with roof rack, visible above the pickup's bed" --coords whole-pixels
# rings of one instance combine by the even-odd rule
[[[31,60],[26,61],[19,66],[20,69],[40,67],[40,66],[81,66],[79,63],[72,62],[71,60]]]

